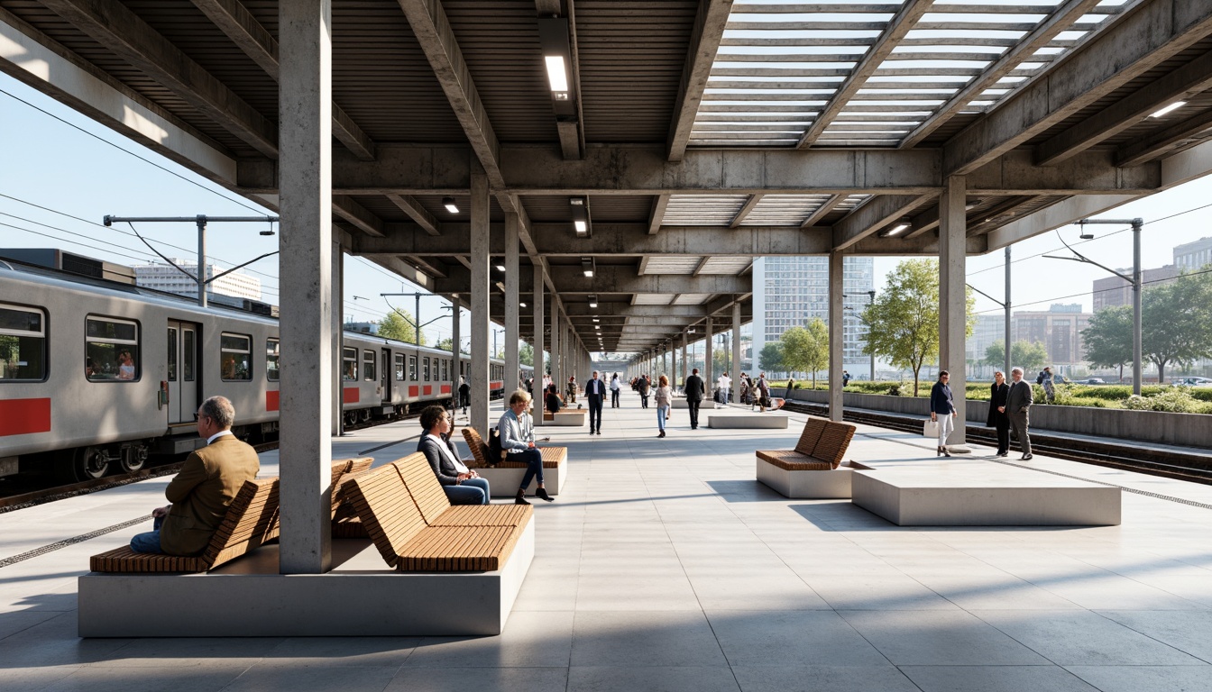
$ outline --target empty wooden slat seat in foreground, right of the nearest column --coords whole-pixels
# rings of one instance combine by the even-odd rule
[[[494,572],[531,531],[532,507],[451,507],[421,452],[342,484],[388,565],[401,572]]]

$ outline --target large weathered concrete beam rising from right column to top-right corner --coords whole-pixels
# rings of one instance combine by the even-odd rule
[[[1212,0],[1142,2],[943,148],[947,175],[970,173],[1096,103],[1212,33]]]

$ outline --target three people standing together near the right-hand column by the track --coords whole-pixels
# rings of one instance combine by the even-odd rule
[[[1023,381],[1023,368],[1014,367],[1010,371],[1011,382],[1006,382],[1006,374],[1000,370],[993,374],[989,396],[989,417],[987,424],[997,430],[999,457],[1010,456],[1010,434],[1014,433],[1018,444],[1023,450],[1021,461],[1029,462],[1031,454],[1031,435],[1028,430],[1030,425],[1030,407],[1035,402],[1035,393],[1031,385]],[[938,448],[937,454],[950,457],[947,448],[947,437],[955,430],[955,417],[959,411],[955,408],[955,399],[951,395],[950,373],[939,371],[938,382],[930,390],[930,419],[938,423]]]

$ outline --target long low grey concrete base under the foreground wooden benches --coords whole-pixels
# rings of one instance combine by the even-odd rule
[[[497,572],[396,572],[366,539],[327,574],[279,574],[278,545],[204,574],[79,579],[80,636],[497,635],[534,557],[534,522]],[[457,594],[458,597],[451,597]]]

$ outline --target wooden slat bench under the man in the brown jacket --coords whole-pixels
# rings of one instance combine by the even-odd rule
[[[93,572],[206,572],[278,538],[278,479],[244,481],[201,555],[136,553],[130,545],[88,560]]]

